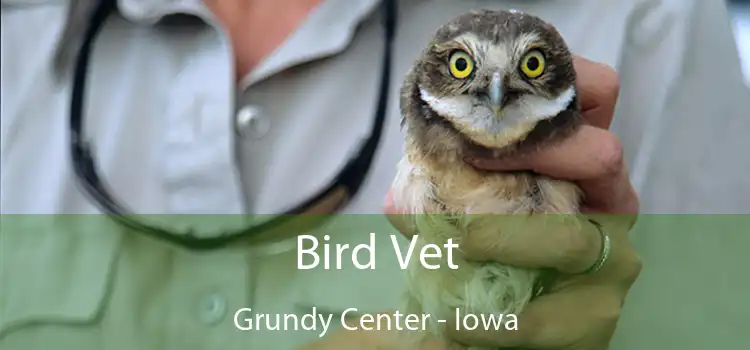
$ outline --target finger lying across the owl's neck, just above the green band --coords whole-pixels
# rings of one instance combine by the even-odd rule
[[[582,126],[554,147],[517,158],[469,159],[477,168],[492,171],[532,170],[553,178],[575,181],[588,207],[609,213],[636,213],[637,196],[628,178],[622,144],[609,131]]]

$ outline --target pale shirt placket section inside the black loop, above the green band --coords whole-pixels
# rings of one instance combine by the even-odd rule
[[[168,211],[239,214],[231,50],[216,31],[199,36],[201,45],[195,47],[200,49],[189,53],[167,112],[163,174]]]

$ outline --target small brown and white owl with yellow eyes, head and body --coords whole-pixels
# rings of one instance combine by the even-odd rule
[[[456,309],[518,314],[539,291],[542,271],[460,253],[467,235],[490,247],[524,234],[523,224],[464,214],[574,214],[578,187],[531,172],[482,171],[465,158],[522,155],[570,135],[582,124],[575,79],[572,54],[552,25],[518,11],[489,10],[439,28],[406,75],[400,107],[407,137],[394,202],[421,214],[410,216],[417,249],[448,239],[459,245],[456,270],[447,260],[440,269],[415,261],[408,270],[407,311],[429,314],[424,326],[432,335],[444,334],[447,324],[436,320],[454,319]]]

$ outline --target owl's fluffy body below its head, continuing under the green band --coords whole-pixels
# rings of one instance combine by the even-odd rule
[[[499,235],[506,228],[492,220],[483,222],[484,215],[445,213],[575,213],[579,201],[578,188],[569,182],[532,174],[488,173],[463,161],[422,157],[408,151],[398,165],[393,196],[399,207],[420,214],[415,215],[419,245],[442,245],[453,239],[459,251],[467,235],[481,234],[488,240],[486,244],[492,245],[496,243],[493,234]],[[516,231],[513,234],[523,234]],[[476,262],[462,253],[453,260],[459,266],[456,270],[410,265],[408,313],[429,314],[434,319],[450,317],[457,309],[473,314],[518,313],[534,295],[540,271]],[[445,324],[428,320],[425,327],[440,336]]]

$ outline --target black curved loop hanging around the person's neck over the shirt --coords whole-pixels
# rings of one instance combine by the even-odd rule
[[[89,19],[83,43],[75,61],[73,93],[70,103],[70,150],[78,184],[105,214],[108,214],[119,224],[135,232],[191,250],[218,249],[240,241],[248,244],[280,241],[304,234],[320,226],[334,212],[344,207],[360,190],[380,143],[389,97],[393,38],[396,31],[395,2],[395,0],[383,0],[381,7],[385,48],[375,122],[370,135],[365,139],[359,151],[346,163],[327,187],[296,207],[261,224],[203,238],[196,236],[194,232],[176,234],[141,222],[132,211],[127,210],[116,200],[97,173],[91,145],[83,134],[86,73],[94,39],[107,17],[117,6],[117,0],[99,1]]]

